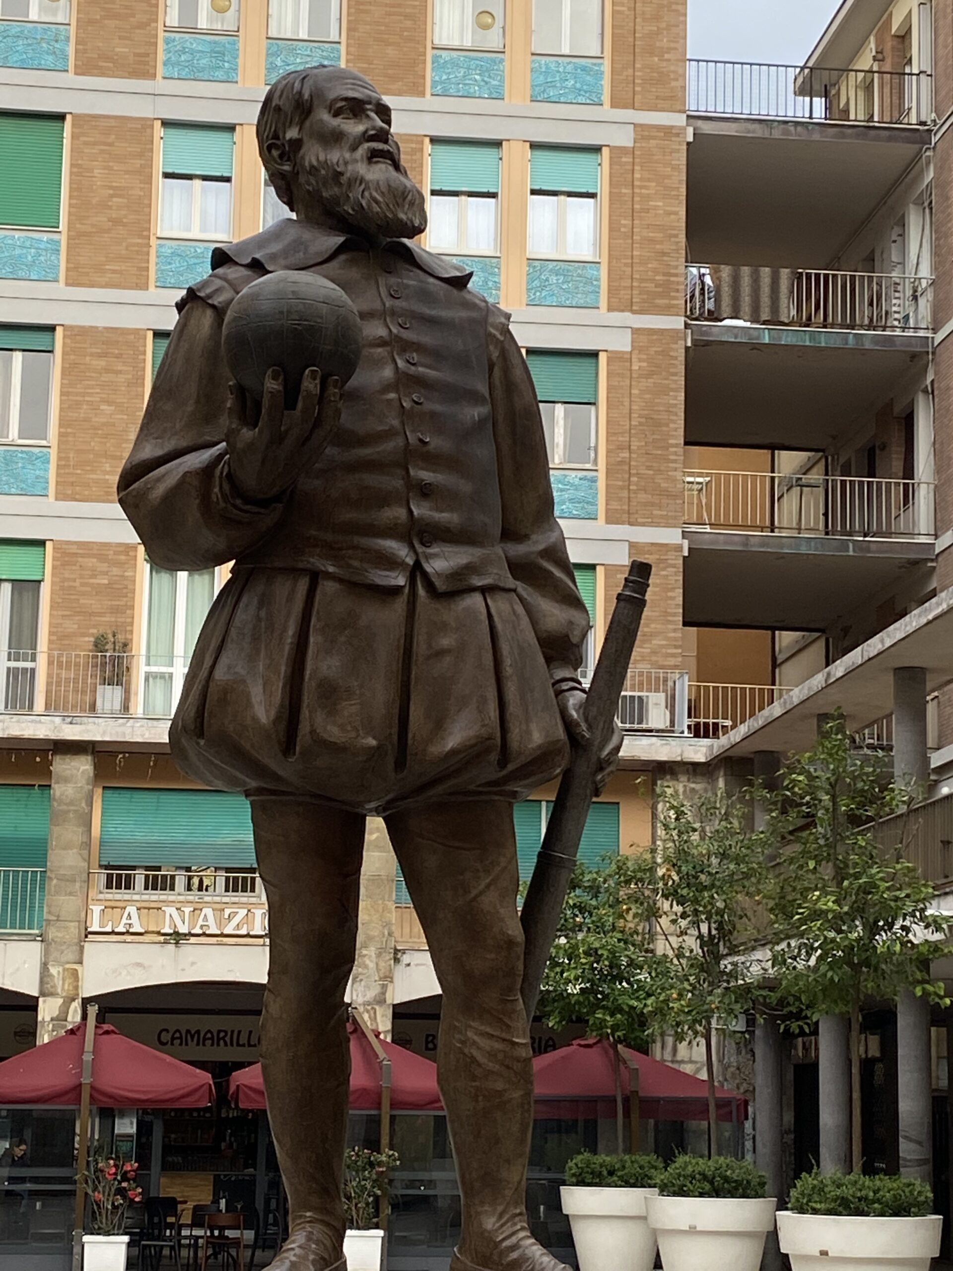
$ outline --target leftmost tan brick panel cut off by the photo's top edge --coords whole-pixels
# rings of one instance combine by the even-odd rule
[[[165,5],[159,0],[80,0],[72,19],[76,75],[155,79],[159,31]]]

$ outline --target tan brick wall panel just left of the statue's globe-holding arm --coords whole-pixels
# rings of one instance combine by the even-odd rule
[[[109,503],[142,416],[146,332],[66,327],[56,497]]]

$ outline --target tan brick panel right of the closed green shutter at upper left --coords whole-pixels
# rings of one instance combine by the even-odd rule
[[[149,286],[151,119],[74,114],[66,285]]]

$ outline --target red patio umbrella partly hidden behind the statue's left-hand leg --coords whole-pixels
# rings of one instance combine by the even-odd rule
[[[371,1112],[380,1108],[380,1065],[374,1047],[355,1023],[347,1026],[351,1042],[351,1108]],[[380,1040],[391,1064],[390,1106],[399,1112],[442,1112],[437,1089],[437,1065],[391,1041]],[[262,1065],[252,1064],[233,1073],[229,1098],[240,1108],[263,1108]]]

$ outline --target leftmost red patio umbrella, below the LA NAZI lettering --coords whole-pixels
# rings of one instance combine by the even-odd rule
[[[74,1024],[62,1037],[0,1064],[0,1107],[79,1106],[84,1035],[85,1024]],[[213,1101],[207,1073],[123,1037],[112,1024],[97,1024],[91,1091],[97,1107],[202,1108]]]

